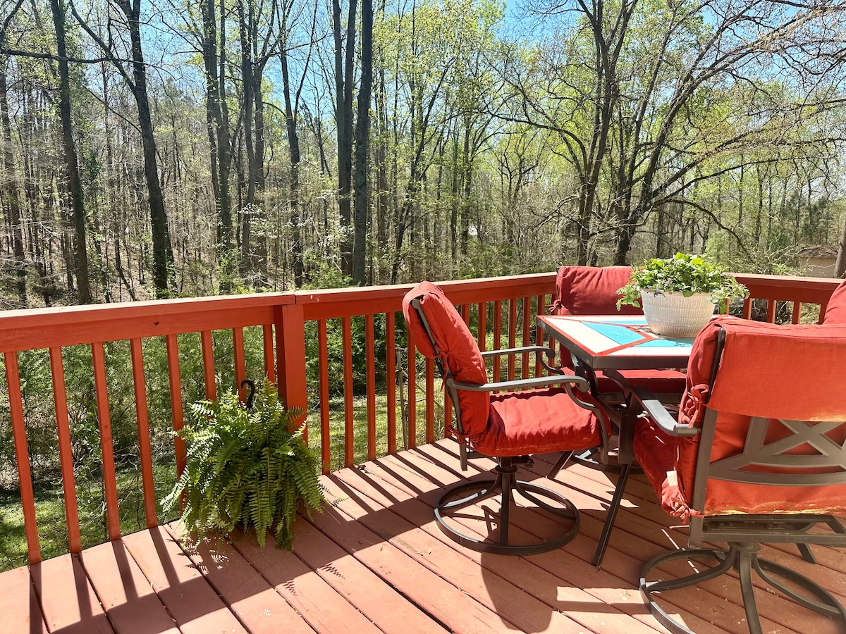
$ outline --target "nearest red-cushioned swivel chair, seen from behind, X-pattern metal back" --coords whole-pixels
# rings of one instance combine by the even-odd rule
[[[761,632],[752,572],[777,593],[846,628],[846,611],[816,582],[759,556],[762,543],[846,546],[846,325],[773,325],[718,318],[696,338],[678,421],[643,388],[633,448],[667,513],[689,522],[688,544],[649,561],[640,591],[652,614],[688,632],[659,593],[739,573],[751,632]],[[625,486],[624,473],[618,493]],[[615,495],[616,503],[619,498]],[[727,542],[724,549],[703,541]],[[652,581],[673,560],[715,566]]]

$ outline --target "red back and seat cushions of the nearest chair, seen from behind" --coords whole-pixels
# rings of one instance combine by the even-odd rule
[[[725,331],[725,347],[713,388],[709,391],[717,333]],[[846,421],[846,325],[774,325],[718,318],[696,338],[688,365],[688,391],[680,407],[679,423],[702,423],[705,407],[717,410],[717,434],[711,462],[737,455],[744,446],[751,417],[771,421]],[[764,444],[790,435],[771,424]],[[673,440],[678,454],[657,451],[666,436],[654,425],[636,430],[634,453],[644,467],[667,512],[665,500],[675,496],[689,504],[693,495],[699,438]],[[843,445],[846,429],[831,440]],[[657,439],[657,440],[656,440]],[[816,455],[810,445],[789,453]],[[675,469],[678,491],[667,489],[667,471]],[[788,473],[787,467],[772,468]],[[846,510],[846,485],[778,487],[710,479],[705,515],[722,513],[827,512]],[[676,513],[678,514],[678,513]]]

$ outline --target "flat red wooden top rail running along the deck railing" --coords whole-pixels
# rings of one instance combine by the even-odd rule
[[[555,272],[437,282],[456,304],[552,292]],[[825,303],[841,280],[734,273],[753,297]],[[0,311],[0,353],[272,324],[274,307],[302,304],[306,320],[399,310],[411,284]]]

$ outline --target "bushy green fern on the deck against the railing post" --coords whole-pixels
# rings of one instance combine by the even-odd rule
[[[192,403],[177,432],[187,448],[185,470],[164,506],[173,510],[182,500],[182,521],[200,536],[227,535],[241,523],[255,528],[261,546],[272,529],[277,546],[290,550],[298,505],[310,513],[325,501],[320,462],[305,444],[303,428],[289,431],[303,414],[283,407],[268,384],[251,407],[239,402],[237,392]]]

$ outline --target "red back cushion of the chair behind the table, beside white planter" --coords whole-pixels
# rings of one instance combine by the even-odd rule
[[[562,266],[555,279],[554,314],[643,314],[626,304],[617,310],[618,289],[629,283],[631,266]]]

